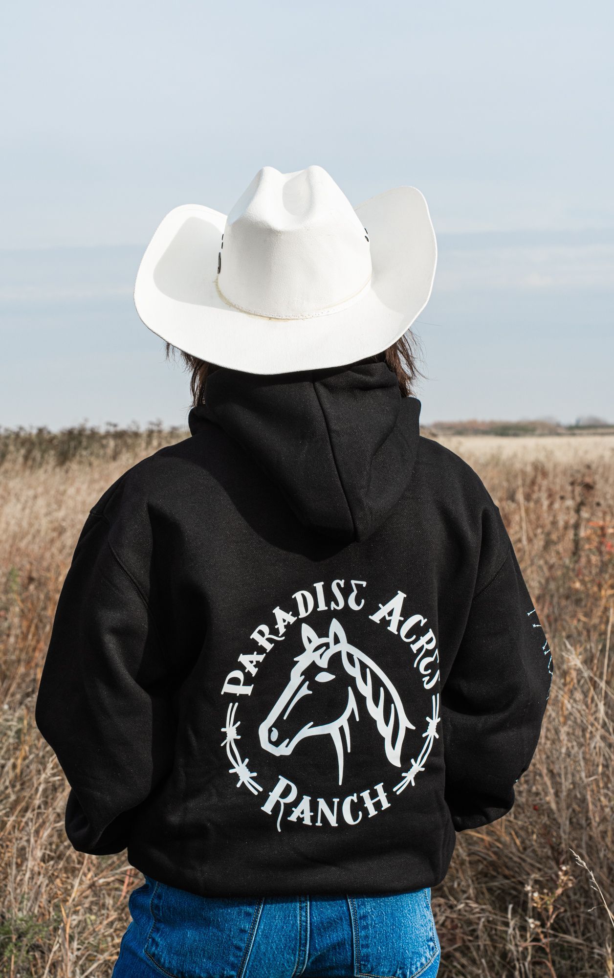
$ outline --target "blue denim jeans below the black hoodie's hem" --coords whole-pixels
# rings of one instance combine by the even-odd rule
[[[111,978],[434,978],[430,888],[394,896],[200,897],[150,876]]]

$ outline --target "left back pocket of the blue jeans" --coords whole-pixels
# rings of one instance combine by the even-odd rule
[[[264,898],[201,897],[149,880],[147,956],[169,978],[241,978]]]

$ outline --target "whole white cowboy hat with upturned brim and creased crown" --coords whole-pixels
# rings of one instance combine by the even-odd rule
[[[428,302],[436,262],[416,187],[353,208],[321,166],[265,166],[228,216],[197,203],[166,215],[134,301],[153,333],[220,367],[340,367],[405,333]]]

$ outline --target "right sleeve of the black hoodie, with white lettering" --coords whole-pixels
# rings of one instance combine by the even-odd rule
[[[457,831],[501,819],[528,769],[546,711],[552,657],[511,542],[473,598],[442,689],[446,801]]]

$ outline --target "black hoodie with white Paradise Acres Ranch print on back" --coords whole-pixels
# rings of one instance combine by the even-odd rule
[[[205,896],[435,886],[548,701],[501,514],[381,359],[205,394],[66,574],[35,719],[67,836]]]

